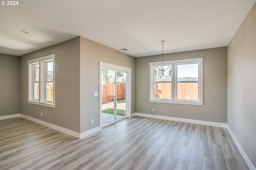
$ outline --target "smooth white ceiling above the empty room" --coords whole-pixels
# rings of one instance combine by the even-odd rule
[[[81,35],[142,57],[227,46],[256,0],[22,0],[0,6],[0,53]],[[30,34],[20,32],[21,29]]]

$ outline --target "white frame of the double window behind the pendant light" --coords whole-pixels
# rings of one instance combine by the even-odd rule
[[[178,100],[177,99],[177,65],[180,64],[198,64],[198,101],[194,100]],[[154,98],[154,66],[162,66],[162,61],[149,63],[150,71],[150,102],[159,103],[172,103],[172,104],[190,104],[190,105],[203,105],[203,58],[195,59],[182,59],[182,60],[172,60],[164,61],[164,66],[172,66],[172,96],[171,99],[156,99]]]

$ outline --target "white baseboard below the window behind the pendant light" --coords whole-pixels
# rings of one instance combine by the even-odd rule
[[[172,120],[172,121],[181,121],[186,123],[195,123],[200,125],[209,125],[209,126],[216,126],[216,127],[226,127],[226,123],[218,123],[218,122],[212,122],[212,121],[202,121],[202,120],[194,120],[194,119],[184,119],[184,118],[178,118],[178,117],[169,117],[169,116],[160,116],[160,115],[151,115],[151,114],[145,114],[145,113],[133,113],[136,116],[142,116],[142,117],[151,117],[156,119],[164,119],[164,120]]]

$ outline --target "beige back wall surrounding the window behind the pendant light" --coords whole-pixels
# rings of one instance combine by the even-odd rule
[[[203,106],[149,102],[149,63],[161,61],[162,55],[136,58],[136,112],[226,123],[227,47],[165,54],[164,60],[200,57],[204,58]]]

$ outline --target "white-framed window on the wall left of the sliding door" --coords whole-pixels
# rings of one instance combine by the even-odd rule
[[[28,61],[28,103],[55,107],[55,55]]]

